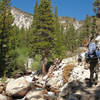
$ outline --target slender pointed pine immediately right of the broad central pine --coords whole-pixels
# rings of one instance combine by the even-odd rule
[[[58,9],[55,6],[55,55],[56,57],[62,57],[65,55],[65,36],[62,32],[62,26],[59,23],[58,19]]]

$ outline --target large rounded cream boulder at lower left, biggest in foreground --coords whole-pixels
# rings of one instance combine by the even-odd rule
[[[13,81],[10,81],[6,86],[6,94],[8,96],[20,96],[23,97],[28,92],[30,87],[29,82],[24,77],[20,77]]]

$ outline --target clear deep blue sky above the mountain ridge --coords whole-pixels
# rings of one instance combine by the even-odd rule
[[[58,7],[58,16],[68,16],[77,20],[84,20],[86,15],[95,15],[93,12],[94,0],[52,0],[53,8]],[[39,2],[39,0],[38,0]],[[12,0],[11,5],[22,11],[33,14],[35,0]]]

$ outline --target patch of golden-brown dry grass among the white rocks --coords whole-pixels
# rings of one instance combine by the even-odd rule
[[[68,79],[70,77],[70,72],[73,70],[74,67],[75,67],[75,65],[73,65],[73,64],[69,64],[64,67],[64,69],[63,69],[64,83],[68,82]]]

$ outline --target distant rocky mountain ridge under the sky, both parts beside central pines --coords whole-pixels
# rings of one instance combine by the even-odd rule
[[[28,29],[30,27],[33,20],[32,14],[21,11],[16,7],[11,8],[11,13],[15,18],[14,24],[16,24],[19,28],[24,27],[25,29]],[[64,26],[64,29],[66,29],[66,26],[70,23],[73,23],[75,29],[79,29],[82,25],[82,22],[69,17],[59,17],[59,22]]]

